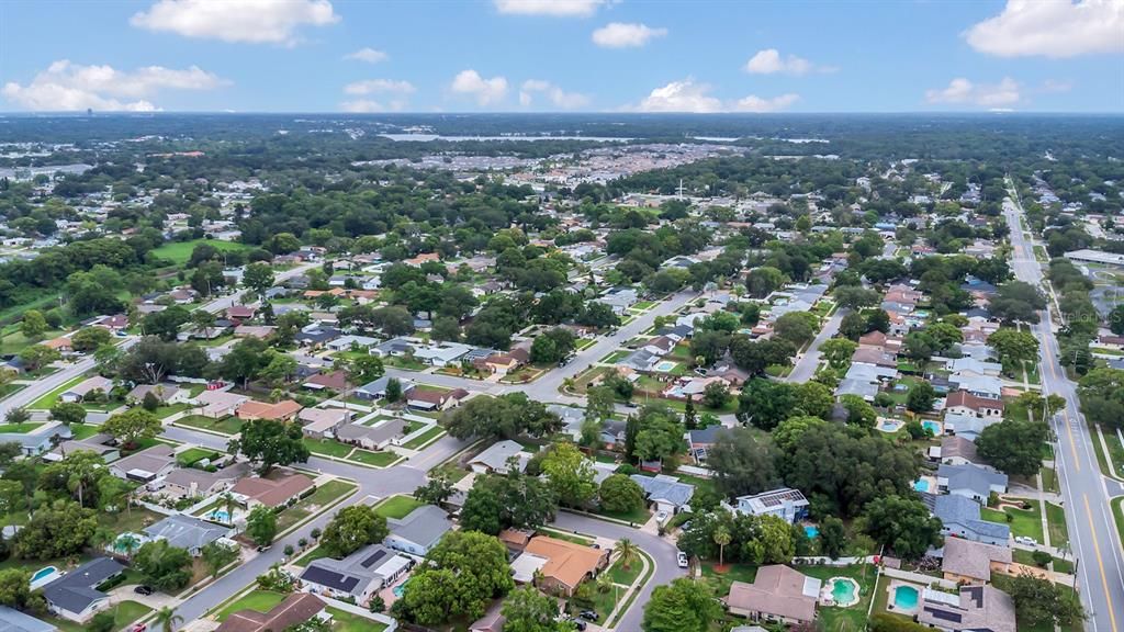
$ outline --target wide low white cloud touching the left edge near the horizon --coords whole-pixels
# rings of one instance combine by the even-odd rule
[[[4,84],[9,101],[28,110],[151,111],[157,109],[148,98],[161,90],[214,90],[229,84],[198,66],[173,70],[145,66],[124,72],[109,65],[81,65],[69,60],[51,64],[27,85]]]

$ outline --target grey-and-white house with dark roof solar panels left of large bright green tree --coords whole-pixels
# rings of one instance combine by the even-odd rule
[[[351,597],[364,604],[377,592],[395,583],[414,560],[382,544],[369,544],[342,560],[312,560],[300,574],[305,589],[336,599]]]

